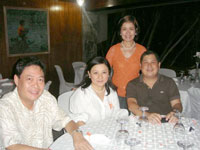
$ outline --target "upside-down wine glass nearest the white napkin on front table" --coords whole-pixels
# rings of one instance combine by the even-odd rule
[[[116,140],[118,143],[124,143],[129,136],[128,130],[126,130],[124,127],[124,125],[128,123],[128,118],[118,118],[117,122],[120,123],[120,130],[118,130],[116,133]]]

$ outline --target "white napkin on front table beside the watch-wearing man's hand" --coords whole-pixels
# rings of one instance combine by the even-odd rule
[[[84,137],[91,145],[108,145],[111,142],[104,134],[91,134]]]

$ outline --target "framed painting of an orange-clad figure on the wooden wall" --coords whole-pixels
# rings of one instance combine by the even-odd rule
[[[4,7],[8,56],[50,53],[47,9]]]

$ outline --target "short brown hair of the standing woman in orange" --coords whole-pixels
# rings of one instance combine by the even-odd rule
[[[118,36],[121,37],[120,36],[121,27],[122,27],[122,25],[125,22],[132,22],[134,24],[134,26],[135,26],[135,33],[136,33],[135,40],[137,40],[139,32],[140,32],[140,26],[139,26],[136,18],[134,16],[132,16],[132,15],[126,15],[126,16],[124,16],[123,18],[121,18],[119,20],[119,22],[118,22]]]

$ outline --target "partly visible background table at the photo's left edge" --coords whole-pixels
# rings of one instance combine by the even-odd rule
[[[0,98],[4,94],[12,91],[14,88],[15,88],[15,84],[12,79],[8,79],[8,78],[0,79]]]

